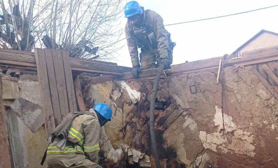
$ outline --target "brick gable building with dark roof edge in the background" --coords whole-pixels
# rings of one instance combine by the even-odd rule
[[[234,51],[232,54],[234,54],[234,57],[241,57],[243,52],[271,47],[274,45],[278,45],[278,33],[261,30],[250,40],[236,49],[236,51]]]

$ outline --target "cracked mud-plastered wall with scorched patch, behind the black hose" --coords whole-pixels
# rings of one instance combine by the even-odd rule
[[[278,167],[278,100],[252,67],[226,67],[160,81],[155,111],[163,167]],[[105,102],[112,121],[101,140],[103,167],[155,167],[150,146],[149,107],[153,80],[87,85],[87,107]],[[197,86],[191,94],[190,85]]]

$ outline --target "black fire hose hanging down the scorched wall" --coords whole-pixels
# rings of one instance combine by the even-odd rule
[[[157,94],[157,89],[158,89],[158,83],[159,83],[162,71],[164,70],[164,67],[165,67],[165,64],[162,63],[158,69],[158,72],[155,77],[155,82],[153,83],[152,97],[150,99],[150,138],[152,141],[153,156],[155,158],[155,165],[157,168],[161,168],[161,165],[159,162],[157,144],[156,144],[156,140],[155,140],[155,100],[156,100],[156,94]]]

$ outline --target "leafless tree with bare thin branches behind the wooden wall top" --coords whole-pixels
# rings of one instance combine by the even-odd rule
[[[0,7],[2,48],[53,48],[87,59],[111,59],[121,48],[123,0],[1,0]]]

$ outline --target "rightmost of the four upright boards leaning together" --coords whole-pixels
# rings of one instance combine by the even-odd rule
[[[77,106],[76,106],[76,99],[74,94],[73,79],[71,74],[71,65],[69,63],[69,53],[65,50],[60,50],[60,52],[62,52],[62,59],[64,63],[67,97],[69,102],[69,112],[76,112]]]

